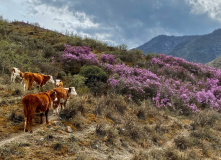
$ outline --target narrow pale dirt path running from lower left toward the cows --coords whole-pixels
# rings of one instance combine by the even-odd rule
[[[54,121],[54,120],[57,120],[59,117],[56,115],[49,115],[48,116],[48,119],[49,119],[49,122],[51,121]],[[45,125],[45,123],[43,124]],[[32,127],[33,128],[33,131],[34,132],[37,132],[39,130],[41,130],[42,126],[41,125],[37,125],[35,127]],[[8,144],[8,143],[11,143],[13,141],[18,141],[18,140],[21,140],[21,139],[24,139],[24,137],[30,135],[30,133],[28,132],[20,132],[20,133],[13,133],[11,134],[9,137],[3,139],[0,141],[0,147],[4,146],[5,144]]]

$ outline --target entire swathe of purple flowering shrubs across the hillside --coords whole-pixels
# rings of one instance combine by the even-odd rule
[[[130,66],[117,64],[116,56],[102,53],[99,61],[89,47],[66,45],[61,62],[72,70],[85,64],[102,68],[108,77],[107,82],[102,83],[108,84],[110,92],[135,101],[150,98],[156,107],[167,107],[184,114],[204,108],[221,111],[220,69],[163,54],[142,55],[146,68],[141,68],[131,63],[133,61],[126,54],[121,54],[121,60],[125,58]]]

